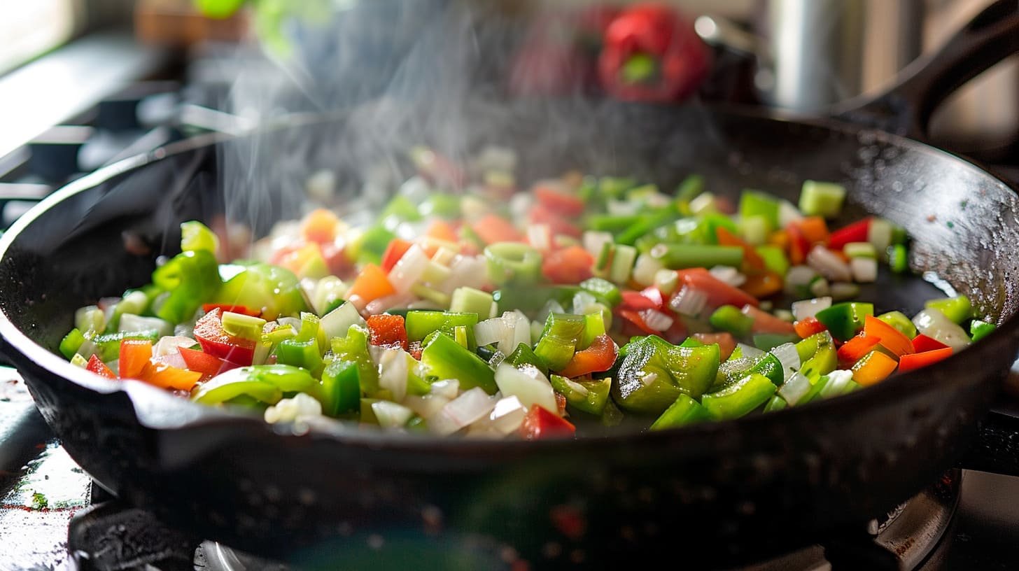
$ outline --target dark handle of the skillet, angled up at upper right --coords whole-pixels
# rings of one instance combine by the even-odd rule
[[[1019,53],[1019,1],[998,0],[940,50],[903,69],[875,97],[849,100],[836,117],[924,141],[930,117],[956,90],[1010,55]]]

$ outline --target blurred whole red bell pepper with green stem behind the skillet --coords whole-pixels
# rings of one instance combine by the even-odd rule
[[[711,56],[693,23],[656,3],[623,10],[605,30],[598,58],[602,86],[629,101],[678,101],[707,76]]]

